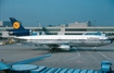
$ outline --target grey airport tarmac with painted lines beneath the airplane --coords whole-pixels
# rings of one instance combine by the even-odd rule
[[[101,61],[111,61],[114,63],[114,42],[98,48],[77,47],[72,51],[49,52],[48,48],[5,45],[0,46],[0,59],[4,63],[13,63],[38,56],[51,53],[52,56],[30,64],[46,65],[50,68],[69,68],[100,70]],[[96,50],[94,50],[96,49]],[[114,64],[112,65],[114,70]]]

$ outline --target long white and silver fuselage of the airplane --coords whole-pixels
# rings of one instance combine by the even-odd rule
[[[24,42],[34,45],[69,45],[81,47],[98,47],[111,44],[105,36],[100,35],[39,35],[16,37]]]

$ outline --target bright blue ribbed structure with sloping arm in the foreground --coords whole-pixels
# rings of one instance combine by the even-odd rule
[[[102,61],[100,70],[48,68],[45,65],[27,64],[47,57],[50,57],[50,54],[45,54],[11,64],[4,64],[3,62],[0,62],[0,73],[114,73],[111,68],[112,62],[110,61]]]

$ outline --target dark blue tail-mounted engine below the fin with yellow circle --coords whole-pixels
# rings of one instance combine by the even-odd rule
[[[29,29],[24,29],[24,31],[11,31],[9,32],[10,35],[15,35],[15,36],[28,36],[31,34],[31,31]]]

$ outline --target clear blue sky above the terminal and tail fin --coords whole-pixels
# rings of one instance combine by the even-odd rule
[[[0,0],[0,21],[9,17],[24,26],[88,21],[93,26],[114,26],[114,0]]]

